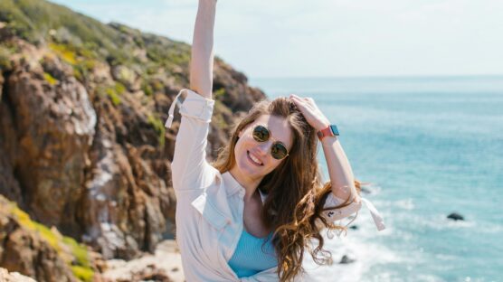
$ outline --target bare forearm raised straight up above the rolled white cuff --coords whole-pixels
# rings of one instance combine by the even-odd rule
[[[199,0],[190,61],[190,89],[207,99],[213,89],[215,10],[216,0]]]

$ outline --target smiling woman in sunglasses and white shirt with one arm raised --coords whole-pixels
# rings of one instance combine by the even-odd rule
[[[313,99],[291,95],[261,101],[233,131],[216,162],[205,160],[214,107],[213,33],[216,0],[199,0],[192,45],[190,89],[183,92],[172,179],[176,191],[176,240],[185,278],[193,281],[291,281],[303,272],[308,250],[330,262],[322,228],[346,230],[334,221],[365,202],[379,230],[384,222],[359,196],[337,136]],[[332,128],[332,130],[330,130]],[[321,183],[318,137],[330,182]],[[308,249],[308,242],[318,246]]]

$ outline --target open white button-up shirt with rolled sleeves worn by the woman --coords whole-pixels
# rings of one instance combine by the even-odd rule
[[[187,282],[197,281],[278,281],[277,267],[251,277],[239,278],[227,261],[243,229],[244,188],[229,172],[220,174],[206,161],[206,145],[214,100],[190,89],[182,89],[169,109],[166,127],[171,126],[177,99],[186,98],[180,108],[182,121],[176,136],[172,180],[176,192],[176,241],[182,256]],[[262,202],[265,195],[261,194]],[[326,206],[344,202],[330,193]],[[377,228],[384,222],[372,203],[362,198],[371,211]],[[358,211],[361,202],[325,211],[330,221],[341,220]]]

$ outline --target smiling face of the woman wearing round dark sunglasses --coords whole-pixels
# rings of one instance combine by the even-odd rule
[[[265,142],[256,141],[253,128],[261,125],[270,131],[270,138]],[[261,179],[273,171],[282,161],[270,155],[270,147],[276,141],[283,143],[288,150],[291,149],[293,134],[287,119],[270,115],[262,115],[239,133],[239,139],[234,147],[236,165],[242,176],[251,179]]]

